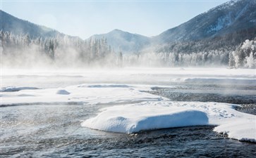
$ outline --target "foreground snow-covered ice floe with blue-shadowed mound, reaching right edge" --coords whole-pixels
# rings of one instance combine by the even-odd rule
[[[182,126],[217,126],[230,138],[256,142],[256,117],[234,109],[237,105],[201,102],[142,102],[106,107],[82,126],[102,131],[136,133]]]

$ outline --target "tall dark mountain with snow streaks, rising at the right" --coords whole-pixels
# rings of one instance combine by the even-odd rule
[[[256,1],[233,0],[154,37],[157,43],[222,37],[243,30],[256,34]]]

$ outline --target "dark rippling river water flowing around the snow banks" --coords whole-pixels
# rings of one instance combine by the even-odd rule
[[[240,111],[255,114],[256,88],[234,86],[176,84],[174,88],[153,88],[150,93],[178,101],[236,103],[243,105]],[[255,157],[256,154],[256,144],[226,138],[212,131],[214,126],[135,134],[80,126],[81,121],[106,106],[109,105],[1,107],[0,157]]]

